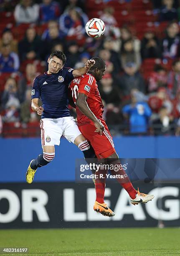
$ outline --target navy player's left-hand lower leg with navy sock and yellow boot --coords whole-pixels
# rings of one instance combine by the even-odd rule
[[[43,154],[40,154],[36,159],[30,161],[28,166],[28,170],[26,172],[26,182],[32,183],[34,179],[34,175],[38,167],[45,166],[50,163],[55,156],[55,148],[53,145],[51,146],[43,146]]]

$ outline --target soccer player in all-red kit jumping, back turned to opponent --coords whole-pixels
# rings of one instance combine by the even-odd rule
[[[118,155],[114,149],[114,143],[109,129],[102,119],[103,103],[99,94],[96,81],[100,81],[106,70],[106,64],[99,57],[92,58],[95,64],[89,70],[89,73],[75,78],[70,84],[72,98],[76,104],[76,113],[79,130],[84,137],[91,143],[99,163],[113,166],[112,174],[119,174],[118,182],[127,191],[130,201],[133,205],[145,203],[154,198],[154,195],[146,195],[140,193],[132,186],[127,174],[120,164]],[[103,165],[102,165],[103,166]],[[117,166],[118,170],[117,170]],[[116,169],[116,172],[114,171]],[[103,178],[96,178],[96,201],[94,210],[105,216],[114,216],[115,213],[104,203],[105,177],[108,170],[101,168],[99,174],[103,174]],[[100,175],[99,175],[100,177]],[[101,176],[102,177],[102,176]],[[117,176],[116,176],[117,177]]]

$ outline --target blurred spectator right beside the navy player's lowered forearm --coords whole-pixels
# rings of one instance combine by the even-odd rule
[[[22,123],[38,121],[37,113],[31,109],[31,89],[25,92],[25,101],[20,106],[20,119]]]

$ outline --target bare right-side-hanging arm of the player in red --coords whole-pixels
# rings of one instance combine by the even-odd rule
[[[84,93],[78,93],[78,97],[76,100],[76,106],[81,110],[81,112],[86,115],[89,119],[91,119],[96,127],[95,132],[100,133],[102,135],[102,132],[104,131],[104,125],[101,123],[101,121],[96,118],[96,116],[92,113],[90,110],[87,102],[86,102],[87,96]]]

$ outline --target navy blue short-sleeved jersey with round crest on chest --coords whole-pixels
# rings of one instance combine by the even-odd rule
[[[35,77],[31,99],[42,100],[41,118],[61,118],[70,116],[68,109],[68,84],[74,79],[73,69],[63,68],[56,74],[44,74]]]

